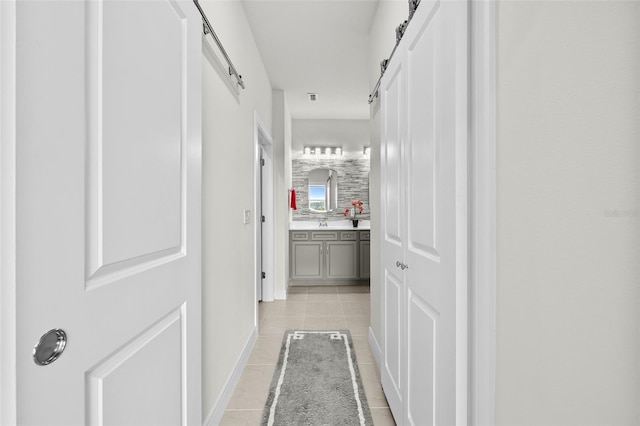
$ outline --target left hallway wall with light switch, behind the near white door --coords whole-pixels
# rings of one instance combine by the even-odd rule
[[[246,90],[203,46],[203,418],[225,391],[255,332],[254,111],[270,131],[271,85],[241,2],[201,0]],[[217,48],[213,48],[217,52]],[[243,210],[254,215],[243,223]],[[222,404],[224,405],[224,404]]]

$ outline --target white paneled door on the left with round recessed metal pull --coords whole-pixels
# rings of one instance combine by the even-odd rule
[[[18,422],[201,424],[201,18],[17,7]]]

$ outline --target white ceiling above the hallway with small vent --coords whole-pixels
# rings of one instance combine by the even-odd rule
[[[285,91],[292,118],[369,118],[369,29],[378,0],[243,5],[271,85]]]

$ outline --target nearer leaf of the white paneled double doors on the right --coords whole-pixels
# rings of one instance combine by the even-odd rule
[[[456,215],[464,208],[456,204],[456,138],[466,137],[459,115],[466,102],[458,102],[466,85],[457,81],[466,61],[456,62],[455,20],[464,11],[457,3],[423,1],[405,35],[405,423],[421,426],[456,422]]]

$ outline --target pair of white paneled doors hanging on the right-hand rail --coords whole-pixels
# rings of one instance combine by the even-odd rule
[[[381,86],[382,383],[399,424],[466,422],[466,13],[423,0]]]

